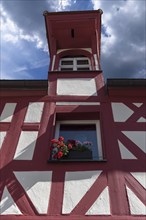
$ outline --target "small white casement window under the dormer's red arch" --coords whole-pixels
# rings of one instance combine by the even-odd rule
[[[90,60],[87,57],[62,58],[59,63],[60,71],[91,70]]]

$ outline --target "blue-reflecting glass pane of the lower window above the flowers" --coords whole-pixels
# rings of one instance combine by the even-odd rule
[[[91,142],[92,152],[95,155],[95,159],[98,158],[95,124],[61,124],[59,135],[63,136],[65,141],[76,140],[81,142]]]

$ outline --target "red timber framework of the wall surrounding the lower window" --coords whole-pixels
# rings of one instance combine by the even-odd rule
[[[145,216],[132,216],[129,210],[129,204],[127,200],[127,192],[125,185],[127,185],[146,205],[145,189],[134,179],[130,172],[146,172],[145,154],[134,143],[127,139],[122,134],[122,130],[130,131],[145,131],[146,123],[137,123],[137,119],[140,117],[146,117],[146,99],[143,91],[139,89],[125,89],[130,91],[132,96],[121,96],[122,91],[106,93],[105,88],[99,93],[97,97],[57,97],[55,94],[51,96],[31,97],[26,96],[21,99],[19,92],[17,97],[13,96],[10,92],[9,97],[5,97],[1,101],[2,111],[5,102],[17,102],[17,107],[11,123],[1,123],[0,130],[8,131],[8,135],[1,148],[1,184],[0,184],[0,198],[2,197],[3,189],[7,186],[9,193],[13,200],[21,210],[23,215],[21,216],[1,216],[1,220],[39,220],[39,219],[90,219],[90,220],[144,220]],[[28,94],[28,91],[26,91]],[[118,95],[120,94],[120,95]],[[15,92],[16,95],[16,92]],[[11,96],[11,97],[10,97]],[[49,157],[49,143],[54,136],[52,129],[55,114],[73,113],[81,114],[82,106],[56,106],[57,101],[79,101],[88,104],[91,101],[100,102],[99,106],[86,106],[86,112],[94,112],[100,115],[101,127],[102,127],[102,139],[106,162],[65,162],[65,163],[47,163]],[[41,123],[27,124],[24,123],[24,117],[26,114],[27,106],[29,102],[44,101],[44,111],[42,115]],[[134,113],[126,122],[114,122],[111,102],[122,102],[131,108]],[[141,102],[141,107],[136,107],[133,102]],[[85,107],[85,106],[84,106]],[[85,108],[84,108],[85,110]],[[51,129],[50,129],[51,128]],[[18,161],[13,160],[13,156],[16,150],[17,142],[19,139],[21,130],[38,130],[38,140],[34,152],[33,159],[31,161]],[[117,139],[122,143],[125,143],[127,148],[137,157],[137,160],[122,160]],[[11,149],[11,150],[9,150]],[[41,153],[40,153],[41,152]],[[80,200],[77,206],[72,210],[69,215],[62,215],[62,202],[64,193],[64,180],[65,172],[69,171],[92,171],[102,170],[99,178],[95,181],[89,191]],[[48,213],[46,215],[40,215],[33,203],[29,199],[28,195],[14,176],[14,171],[52,171],[52,187],[50,194],[50,201],[48,206]],[[96,198],[102,192],[102,190],[108,186],[110,196],[110,216],[85,216],[87,210],[94,203]],[[57,198],[57,203],[56,203]]]

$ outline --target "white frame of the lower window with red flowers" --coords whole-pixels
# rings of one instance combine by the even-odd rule
[[[96,135],[97,135],[97,149],[92,151],[93,160],[103,160],[102,153],[102,142],[101,142],[101,131],[100,131],[100,120],[64,120],[57,121],[55,128],[55,138],[59,138],[60,125],[61,124],[94,124],[96,126]],[[98,157],[97,157],[98,155]]]

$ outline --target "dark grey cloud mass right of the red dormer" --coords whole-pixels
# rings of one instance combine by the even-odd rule
[[[111,5],[109,2],[105,4],[107,1],[102,2],[103,27],[105,27],[106,36],[110,34],[110,31],[108,33],[107,30],[112,29],[111,35],[116,37],[116,41],[106,51],[103,51],[105,42],[101,47],[101,63],[106,78],[146,77],[146,73],[144,73],[146,70],[146,11],[144,2],[143,0],[118,1],[118,3],[110,1]],[[109,21],[104,19],[108,13],[111,14]],[[108,40],[107,38],[106,41]]]

